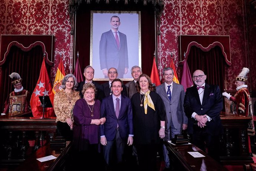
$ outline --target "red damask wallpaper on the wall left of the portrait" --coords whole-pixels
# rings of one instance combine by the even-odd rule
[[[70,35],[68,0],[0,0],[0,34],[52,34],[55,36],[53,80],[63,57],[69,73],[73,36]]]

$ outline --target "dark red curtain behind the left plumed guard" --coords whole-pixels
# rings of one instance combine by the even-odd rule
[[[10,48],[5,63],[0,66],[0,110],[3,111],[4,102],[7,95],[14,90],[9,75],[12,72],[20,74],[23,79],[22,86],[28,90],[30,95],[36,87],[40,69],[43,61],[43,51],[41,46],[36,46],[30,51],[22,51],[16,46]],[[46,65],[49,73],[50,66]]]

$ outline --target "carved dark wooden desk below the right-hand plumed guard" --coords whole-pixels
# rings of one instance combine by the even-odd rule
[[[223,165],[242,165],[252,163],[249,155],[247,128],[249,117],[221,113],[223,134],[220,138],[220,161]]]

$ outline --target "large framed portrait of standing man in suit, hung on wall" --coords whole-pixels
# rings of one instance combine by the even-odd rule
[[[133,80],[131,67],[141,67],[140,11],[91,11],[90,65],[93,80],[108,80],[109,68],[116,68],[117,78]]]

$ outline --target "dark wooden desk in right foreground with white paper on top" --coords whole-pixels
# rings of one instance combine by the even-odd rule
[[[171,166],[178,171],[227,171],[217,161],[207,155],[205,152],[197,148],[195,145],[172,145],[164,141],[170,156]],[[194,158],[188,152],[198,151],[205,157]]]

